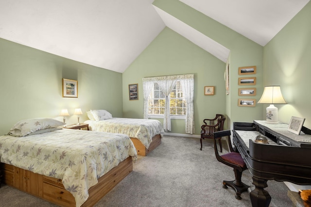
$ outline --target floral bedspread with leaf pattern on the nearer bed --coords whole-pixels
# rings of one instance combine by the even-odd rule
[[[127,135],[61,129],[25,137],[0,136],[1,162],[62,179],[80,207],[88,189],[100,176],[132,156],[134,144]]]

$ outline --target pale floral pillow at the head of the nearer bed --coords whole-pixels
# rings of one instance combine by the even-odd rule
[[[35,132],[40,129],[45,128],[54,128],[61,127],[64,125],[64,122],[58,121],[52,118],[34,118],[34,119],[26,119],[17,122],[11,129],[9,134],[23,137],[27,134]]]

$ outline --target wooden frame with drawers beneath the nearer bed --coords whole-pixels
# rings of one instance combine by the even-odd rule
[[[0,163],[0,165],[2,181],[7,185],[61,207],[76,206],[73,195],[64,189],[61,179],[39,175],[5,163]],[[132,171],[132,157],[128,157],[98,179],[98,183],[88,190],[89,197],[82,207],[94,206]]]

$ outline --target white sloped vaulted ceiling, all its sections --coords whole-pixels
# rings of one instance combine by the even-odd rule
[[[180,0],[266,45],[309,0]],[[165,28],[223,62],[229,50],[153,0],[0,0],[0,38],[124,72]]]

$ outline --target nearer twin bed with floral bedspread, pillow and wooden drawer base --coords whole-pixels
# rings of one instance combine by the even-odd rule
[[[56,122],[23,120],[0,136],[4,182],[59,206],[93,206],[132,171],[136,148],[125,134]]]

